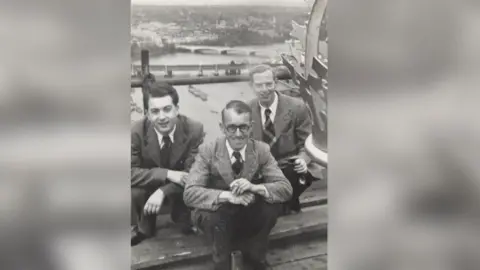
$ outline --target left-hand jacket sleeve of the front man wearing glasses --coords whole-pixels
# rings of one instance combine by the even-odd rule
[[[211,144],[202,145],[195,157],[183,192],[183,201],[189,207],[215,211],[220,206],[218,196],[222,190],[207,188],[210,177],[210,162],[213,158]]]

